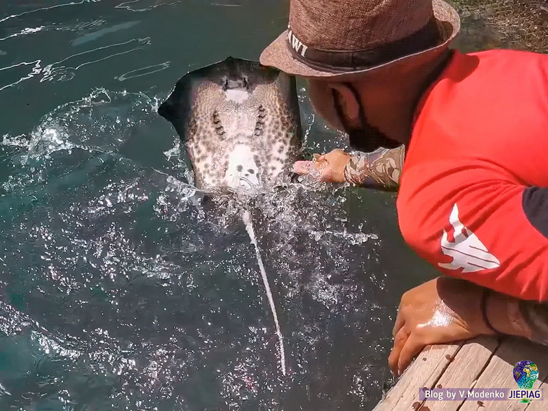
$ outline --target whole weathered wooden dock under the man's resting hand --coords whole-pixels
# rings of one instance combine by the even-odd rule
[[[543,400],[436,401],[419,400],[419,388],[512,388],[518,389],[512,370],[521,360],[538,366],[533,388],[543,388]],[[478,337],[453,345],[426,347],[399,377],[373,411],[547,411],[548,347],[523,338]]]

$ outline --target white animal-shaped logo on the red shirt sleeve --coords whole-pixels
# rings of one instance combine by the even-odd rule
[[[496,269],[500,266],[499,260],[488,251],[484,243],[460,222],[456,203],[449,215],[449,223],[455,231],[455,234],[453,234],[454,242],[449,242],[447,232],[444,229],[441,238],[441,250],[446,256],[453,257],[453,261],[449,263],[438,262],[438,266],[448,270],[463,269],[463,273]]]

